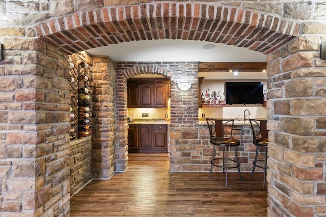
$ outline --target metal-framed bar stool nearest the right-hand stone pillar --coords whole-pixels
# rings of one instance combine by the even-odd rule
[[[268,149],[268,131],[266,129],[267,120],[249,119],[249,121],[253,133],[253,143],[256,145],[256,156],[253,162],[254,167],[253,167],[253,171],[251,172],[251,177],[254,177],[254,172],[256,167],[264,169],[263,188],[265,188],[266,171],[267,171],[267,149]],[[262,160],[258,160],[260,147],[262,147],[264,150],[264,159]],[[263,165],[258,164],[257,162],[263,162]]]

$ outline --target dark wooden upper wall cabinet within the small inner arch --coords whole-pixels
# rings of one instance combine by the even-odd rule
[[[128,108],[167,108],[170,80],[130,78],[127,81]]]

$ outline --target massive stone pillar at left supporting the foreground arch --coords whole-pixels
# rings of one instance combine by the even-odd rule
[[[0,211],[69,215],[68,56],[35,39],[3,44]]]

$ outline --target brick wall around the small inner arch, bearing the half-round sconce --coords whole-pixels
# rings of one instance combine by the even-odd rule
[[[171,124],[170,156],[171,171],[187,171],[177,162],[181,155],[178,148],[191,146],[194,138],[198,140],[198,63],[117,63],[116,104],[117,104],[117,170],[127,167],[127,79],[140,74],[159,74],[171,81]],[[193,83],[188,91],[181,91],[176,83],[188,81]],[[119,138],[118,138],[119,136]],[[118,155],[119,154],[119,155]]]

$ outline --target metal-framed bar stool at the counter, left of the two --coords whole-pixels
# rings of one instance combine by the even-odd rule
[[[208,178],[210,178],[211,176],[213,166],[223,168],[223,173],[225,171],[226,187],[228,187],[228,169],[238,168],[239,178],[240,180],[242,180],[242,176],[240,173],[240,163],[238,161],[237,154],[237,147],[240,145],[240,143],[239,141],[232,138],[234,119],[206,118],[206,121],[207,127],[209,129],[210,144],[213,145],[212,159],[210,161],[210,171]],[[230,133],[226,132],[226,128],[230,128]],[[215,158],[216,146],[223,147],[223,158]],[[227,157],[227,148],[230,150],[231,147],[234,148],[235,160],[229,159]],[[222,164],[219,163],[220,160],[223,160]],[[235,166],[228,166],[228,162],[235,163]]]

